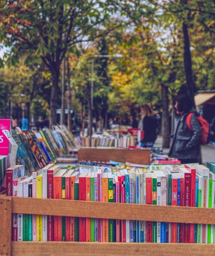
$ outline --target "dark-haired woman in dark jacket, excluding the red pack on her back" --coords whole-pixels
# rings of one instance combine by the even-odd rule
[[[178,158],[181,163],[198,163],[202,138],[198,114],[187,95],[178,95],[174,107],[177,123],[169,156]]]

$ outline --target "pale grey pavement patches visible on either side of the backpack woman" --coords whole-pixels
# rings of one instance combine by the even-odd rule
[[[155,141],[154,147],[162,147],[162,136],[158,136]],[[203,164],[206,162],[215,162],[215,146],[208,144],[201,146],[202,150],[202,161]],[[168,154],[169,148],[163,148],[163,154]]]

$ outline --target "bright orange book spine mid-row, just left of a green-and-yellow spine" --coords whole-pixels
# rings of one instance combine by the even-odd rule
[[[108,178],[102,178],[102,202],[108,202]],[[102,241],[109,241],[108,219],[102,220]]]

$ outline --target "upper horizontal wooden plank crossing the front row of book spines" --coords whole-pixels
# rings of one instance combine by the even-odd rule
[[[215,209],[12,197],[13,213],[215,224]]]

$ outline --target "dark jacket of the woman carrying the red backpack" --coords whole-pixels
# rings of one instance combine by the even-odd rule
[[[199,141],[202,137],[202,131],[196,112],[191,116],[192,131],[188,128],[186,118],[187,114],[190,112],[178,117],[172,146],[169,151],[170,157],[178,159],[198,159],[200,156]]]

